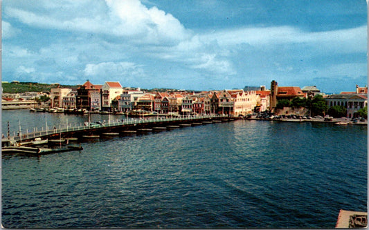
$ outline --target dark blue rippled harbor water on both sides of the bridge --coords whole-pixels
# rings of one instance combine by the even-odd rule
[[[121,119],[116,116],[112,119]],[[22,133],[87,116],[3,111]],[[96,115],[93,120],[107,120]],[[55,123],[55,124],[54,124]],[[367,126],[236,120],[2,156],[6,228],[334,228],[367,211]]]

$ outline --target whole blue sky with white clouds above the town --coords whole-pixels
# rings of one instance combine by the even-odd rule
[[[3,0],[1,26],[8,82],[367,84],[364,0]]]

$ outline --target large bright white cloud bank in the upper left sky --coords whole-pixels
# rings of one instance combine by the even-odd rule
[[[134,43],[170,45],[188,37],[189,31],[178,19],[156,7],[147,8],[138,0],[105,0],[105,12],[102,7],[104,1],[98,2],[100,7],[90,15],[82,12],[94,1],[64,1],[57,4],[60,8],[55,3],[44,2],[40,6],[44,9],[38,12],[8,6],[4,12],[7,17],[18,19],[28,26],[114,35],[126,37]],[[58,12],[64,8],[67,10]],[[75,13],[71,14],[71,11]]]

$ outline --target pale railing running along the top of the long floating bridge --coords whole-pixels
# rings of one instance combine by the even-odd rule
[[[114,126],[124,126],[129,124],[143,124],[143,123],[154,123],[154,122],[174,122],[174,121],[191,121],[194,119],[206,119],[206,118],[217,118],[222,117],[222,115],[197,115],[197,116],[181,116],[181,117],[145,117],[140,119],[123,119],[123,122],[107,122],[106,124],[100,125],[100,127],[91,127],[89,125],[84,126],[66,126],[65,128],[45,128],[42,131],[35,131],[32,133],[21,133],[17,136],[12,136],[10,139],[15,141],[21,141],[24,139],[44,137],[46,135],[57,134],[57,133],[67,133],[71,131],[82,131],[89,130],[93,128],[104,128],[104,127],[114,127]]]

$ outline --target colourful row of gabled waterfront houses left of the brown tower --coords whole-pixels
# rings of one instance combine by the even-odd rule
[[[87,80],[77,90],[52,88],[52,108],[77,108],[87,111],[129,112],[134,110],[167,114],[223,113],[246,115],[269,109],[269,90],[213,90],[200,93],[186,91],[144,92],[140,88],[123,88],[119,82],[93,85]]]

